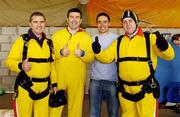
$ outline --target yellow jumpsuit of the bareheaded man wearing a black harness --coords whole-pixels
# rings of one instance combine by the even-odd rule
[[[24,41],[21,36],[17,38],[15,43],[9,52],[9,55],[5,61],[7,67],[15,72],[20,72],[18,64],[22,62],[22,51]],[[41,47],[35,39],[30,39],[27,49],[27,57],[29,58],[49,58],[50,50],[45,39],[43,46]],[[31,70],[26,72],[29,77],[33,78],[45,78],[50,75],[51,83],[57,82],[57,74],[55,71],[54,63],[36,63],[30,62]],[[48,86],[48,82],[33,82],[31,87],[35,93],[44,91]],[[18,96],[15,98],[15,117],[49,117],[49,96],[46,96],[39,100],[32,100],[29,97],[28,92],[21,86],[18,86]]]

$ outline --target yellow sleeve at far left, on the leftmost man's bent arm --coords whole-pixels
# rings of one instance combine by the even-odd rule
[[[9,51],[5,64],[11,71],[20,72],[18,64],[22,62],[23,46],[24,41],[22,37],[18,37]]]

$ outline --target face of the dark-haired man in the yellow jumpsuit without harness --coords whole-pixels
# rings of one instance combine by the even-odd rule
[[[80,27],[82,22],[81,14],[78,12],[70,12],[67,17],[68,27],[71,30],[76,30]]]

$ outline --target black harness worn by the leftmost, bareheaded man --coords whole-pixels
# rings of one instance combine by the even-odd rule
[[[22,52],[22,54],[23,54],[22,61],[24,61],[27,58],[27,49],[28,49],[28,42],[30,40],[30,37],[28,34],[23,34],[21,36],[24,40],[24,46],[23,46],[23,52]],[[49,58],[29,58],[28,59],[29,62],[46,63],[46,62],[54,61],[52,59],[52,51],[53,51],[52,50],[53,49],[52,41],[50,39],[46,39],[46,40],[47,40],[47,44],[50,49],[50,57]],[[33,82],[48,82],[48,86],[44,91],[37,94],[31,89],[31,87],[33,86]],[[25,90],[27,90],[29,92],[29,96],[31,97],[31,99],[33,99],[33,100],[42,99],[49,94],[50,84],[51,84],[50,76],[48,76],[46,78],[31,78],[22,70],[18,74],[16,81],[15,81],[14,89],[15,89],[16,97],[18,96],[18,86],[20,85],[22,88],[24,88]]]

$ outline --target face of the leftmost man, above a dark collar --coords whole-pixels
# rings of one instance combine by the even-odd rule
[[[45,30],[45,18],[43,16],[32,16],[29,26],[36,36],[41,37]]]

